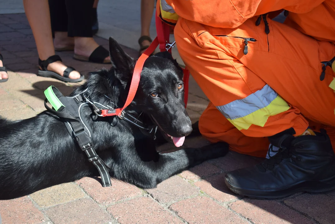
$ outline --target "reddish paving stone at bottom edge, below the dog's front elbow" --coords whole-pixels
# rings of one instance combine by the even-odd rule
[[[184,222],[148,197],[136,198],[107,208],[121,224],[184,224]]]

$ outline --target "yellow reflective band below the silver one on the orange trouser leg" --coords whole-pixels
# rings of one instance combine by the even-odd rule
[[[258,109],[255,112],[242,118],[236,118],[233,120],[228,119],[228,121],[240,131],[242,129],[249,129],[251,125],[264,127],[270,116],[280,114],[288,110],[289,108],[290,106],[287,104],[287,102],[278,95],[274,100],[272,100],[269,105]]]

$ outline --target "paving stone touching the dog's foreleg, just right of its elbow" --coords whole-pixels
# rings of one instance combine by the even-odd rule
[[[176,191],[176,189],[178,189],[178,191]],[[198,189],[178,175],[172,176],[159,183],[157,188],[147,189],[147,192],[158,202],[166,205],[200,193]]]

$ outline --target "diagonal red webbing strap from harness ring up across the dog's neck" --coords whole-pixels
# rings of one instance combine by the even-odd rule
[[[128,93],[124,106],[122,108],[117,108],[117,109],[101,110],[101,114],[103,115],[103,117],[121,115],[122,110],[124,110],[124,108],[126,108],[133,101],[136,91],[137,91],[138,84],[140,82],[143,64],[145,60],[149,57],[149,55],[151,55],[152,52],[155,51],[157,46],[158,46],[158,38],[156,37],[155,40],[153,40],[153,42],[151,43],[151,45],[138,58],[135,68],[134,68],[133,77],[131,79],[129,93]]]

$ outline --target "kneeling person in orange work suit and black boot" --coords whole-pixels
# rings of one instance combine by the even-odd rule
[[[311,129],[312,122],[335,130],[334,8],[335,0],[157,1],[211,101],[199,120],[202,135],[268,155],[226,174],[233,192],[279,198],[335,188],[330,138]],[[282,9],[289,11],[285,23],[271,20]]]

